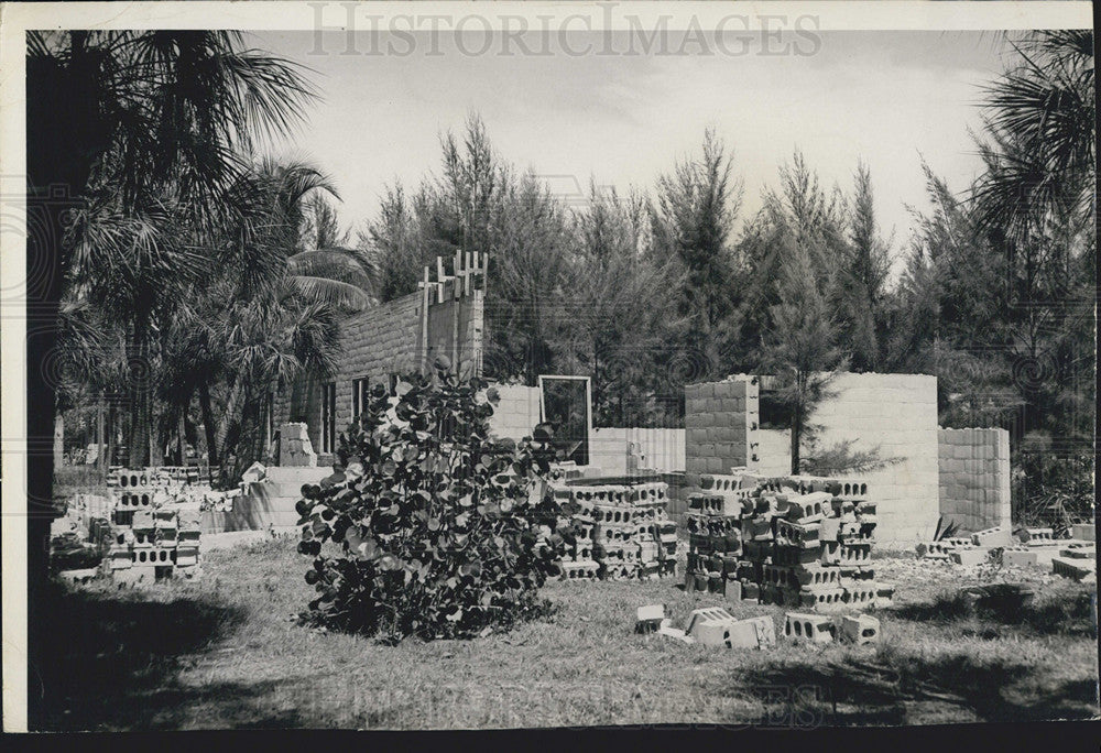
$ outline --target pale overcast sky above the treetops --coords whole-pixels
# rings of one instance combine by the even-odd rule
[[[355,51],[384,51],[389,39],[361,35]],[[321,54],[312,32],[249,41],[313,69],[323,101],[272,150],[326,172],[352,229],[374,216],[386,184],[414,185],[437,171],[439,134],[460,131],[476,111],[501,156],[554,176],[563,194],[590,176],[648,189],[712,126],[744,181],[743,218],[796,148],[827,184],[844,188],[863,159],[895,251],[909,233],[905,205],[926,206],[923,155],[955,188],[977,173],[968,131],[980,126],[980,87],[1012,59],[996,35],[962,32],[828,32],[820,44],[793,47],[815,54],[762,55],[756,46],[709,56],[470,55],[449,34],[437,41],[438,55],[426,54],[433,47],[423,35],[407,55],[339,54],[341,32],[325,33]],[[402,45],[391,46],[411,46]]]

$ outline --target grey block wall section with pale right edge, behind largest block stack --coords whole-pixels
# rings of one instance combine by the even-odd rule
[[[759,396],[756,378],[742,374],[685,385],[685,472],[690,485],[701,473],[755,467]]]

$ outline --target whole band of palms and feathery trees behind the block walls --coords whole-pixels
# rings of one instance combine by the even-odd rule
[[[827,185],[796,151],[749,215],[737,154],[709,130],[648,189],[590,182],[574,206],[477,116],[442,138],[437,172],[388,187],[352,241],[318,170],[253,156],[259,133],[286,131],[316,96],[293,64],[228,33],[32,34],[32,179],[75,187],[54,220],[57,404],[122,395],[132,465],[196,444],[201,426],[211,462],[240,470],[262,455],[272,393],[331,367],[340,317],[414,292],[460,250],[491,259],[487,375],[589,374],[597,425],[676,426],[685,383],[770,374],[793,466],[815,469],[832,374],[930,373],[942,425],[1010,428],[1016,451],[1043,450],[1023,467],[1080,458],[1094,401],[1092,34],[1016,44],[985,92],[982,172],[953,192],[923,165],[931,209],[912,210],[901,241],[882,233],[863,164]],[[64,96],[84,142],[47,122]],[[1029,483],[1050,477],[1045,462],[1025,468]]]

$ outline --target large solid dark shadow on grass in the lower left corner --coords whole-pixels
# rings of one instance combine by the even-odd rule
[[[188,654],[208,648],[243,619],[240,610],[200,600],[145,600],[55,586],[40,607],[35,636],[42,664],[31,675],[32,729],[173,729],[187,707],[217,702],[226,723],[293,727],[295,714],[266,714],[273,684],[179,685]],[[217,723],[217,722],[214,722]]]

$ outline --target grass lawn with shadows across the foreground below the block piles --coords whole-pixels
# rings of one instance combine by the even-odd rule
[[[62,589],[45,624],[44,729],[815,727],[1098,716],[1094,587],[1033,570],[1037,599],[1003,624],[959,609],[974,571],[877,560],[897,586],[879,646],[709,650],[635,635],[637,607],[674,624],[702,605],[784,609],[685,593],[675,581],[554,582],[556,613],[477,641],[397,647],[296,625],[313,590],[291,538],[210,552],[204,579]],[[1007,576],[1021,580],[1022,571]],[[1046,582],[1045,582],[1046,581]]]

